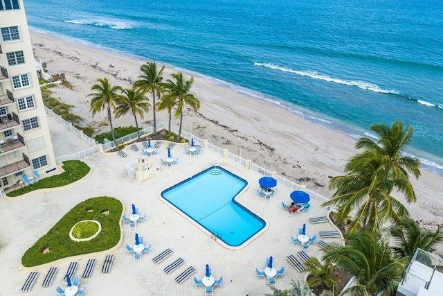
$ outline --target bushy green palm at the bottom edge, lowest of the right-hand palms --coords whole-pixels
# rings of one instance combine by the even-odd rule
[[[340,295],[391,295],[404,274],[404,266],[392,259],[388,242],[371,232],[345,234],[346,245],[329,244],[323,260],[330,260],[356,278],[357,284]]]

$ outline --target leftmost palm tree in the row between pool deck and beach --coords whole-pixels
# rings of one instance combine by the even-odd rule
[[[117,92],[122,88],[119,86],[111,87],[107,78],[98,78],[97,83],[91,87],[91,90],[95,93],[88,94],[91,96],[91,109],[92,116],[98,112],[107,110],[109,127],[111,128],[112,139],[114,140],[114,146],[118,150],[116,135],[114,134],[114,127],[112,126],[111,110],[116,112],[116,101],[118,100]]]

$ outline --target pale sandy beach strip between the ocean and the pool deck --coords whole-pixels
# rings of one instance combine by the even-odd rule
[[[112,85],[132,87],[132,82],[141,74],[141,64],[147,61],[73,44],[42,33],[31,32],[31,41],[35,57],[46,62],[48,73],[64,73],[66,80],[73,85],[72,89],[53,87],[53,96],[73,105],[71,112],[82,117],[81,125],[91,124],[96,128],[107,123],[107,116],[105,112],[96,116],[89,112],[87,94],[91,93],[95,80],[106,77]],[[161,62],[157,62],[157,66],[161,67]],[[170,73],[177,71],[190,78],[190,73],[172,67],[166,67],[163,78],[168,79]],[[343,175],[347,159],[357,153],[354,139],[306,121],[275,103],[240,94],[213,81],[195,76],[191,91],[199,98],[201,108],[197,114],[186,108],[183,130],[331,197],[329,178]],[[167,112],[156,112],[156,116],[158,122],[168,122]],[[141,127],[152,125],[152,112],[138,122]],[[178,125],[179,119],[173,118],[172,124]],[[130,114],[114,120],[114,127],[128,125],[135,125]],[[109,127],[103,128],[103,131],[107,130]],[[422,169],[419,180],[413,179],[412,182],[417,202],[406,204],[401,195],[393,195],[406,204],[422,227],[435,230],[437,225],[443,225],[442,178]],[[443,256],[443,246],[440,245],[435,252]]]

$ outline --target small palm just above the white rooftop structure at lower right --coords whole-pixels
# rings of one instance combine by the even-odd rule
[[[443,241],[440,227],[437,228],[436,232],[429,232],[420,228],[410,218],[404,218],[396,225],[392,225],[390,227],[390,234],[394,241],[392,252],[399,259],[404,259],[404,261],[410,261],[418,247],[424,251],[429,251]]]

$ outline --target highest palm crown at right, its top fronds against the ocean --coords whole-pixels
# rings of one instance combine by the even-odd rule
[[[389,172],[388,177],[397,181],[395,187],[405,195],[408,202],[415,202],[417,196],[409,182],[408,172],[418,179],[420,162],[419,159],[404,154],[404,149],[412,141],[413,127],[408,125],[404,130],[403,122],[397,119],[390,127],[376,123],[370,126],[370,130],[377,134],[379,141],[376,143],[363,137],[357,141],[356,148],[380,155],[381,165]]]

